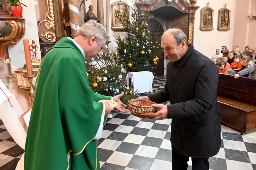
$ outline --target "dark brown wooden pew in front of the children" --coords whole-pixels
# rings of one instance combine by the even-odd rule
[[[256,131],[256,79],[219,73],[217,105],[221,123],[243,135]]]

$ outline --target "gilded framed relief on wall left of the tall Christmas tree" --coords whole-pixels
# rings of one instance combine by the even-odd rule
[[[111,4],[111,29],[113,31],[124,31],[122,20],[130,18],[130,6],[125,2],[114,2]]]

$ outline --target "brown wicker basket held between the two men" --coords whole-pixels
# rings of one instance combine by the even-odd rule
[[[150,115],[157,112],[157,108],[153,107],[152,104],[157,103],[143,99],[131,99],[128,101],[131,114],[144,119],[151,119]]]

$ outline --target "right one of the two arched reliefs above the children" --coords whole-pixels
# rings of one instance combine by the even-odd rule
[[[218,11],[218,31],[230,30],[230,11],[228,8],[221,8]]]

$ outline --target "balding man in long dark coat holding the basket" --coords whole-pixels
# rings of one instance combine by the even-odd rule
[[[172,170],[209,169],[208,158],[221,147],[221,126],[217,113],[219,70],[215,63],[187,44],[180,29],[169,29],[162,35],[161,46],[170,62],[165,88],[140,99],[170,105],[152,114],[156,120],[172,118]]]

